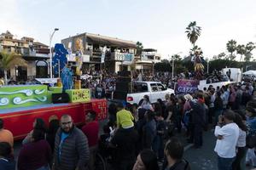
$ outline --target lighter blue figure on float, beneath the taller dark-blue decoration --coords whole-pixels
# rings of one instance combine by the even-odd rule
[[[65,92],[67,89],[73,88],[72,77],[73,77],[73,72],[66,65],[61,71],[61,82],[63,85],[63,92]]]

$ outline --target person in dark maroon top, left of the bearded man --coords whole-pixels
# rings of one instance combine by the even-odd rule
[[[18,157],[18,170],[39,169],[49,170],[51,150],[44,139],[44,132],[39,129],[32,131],[32,139],[24,144]]]

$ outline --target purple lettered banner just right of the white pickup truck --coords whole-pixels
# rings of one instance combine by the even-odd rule
[[[177,80],[175,94],[193,94],[198,90],[198,85],[198,80],[179,79]]]

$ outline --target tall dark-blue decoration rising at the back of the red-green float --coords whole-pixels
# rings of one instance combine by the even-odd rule
[[[62,43],[55,44],[55,55],[52,59],[52,65],[54,67],[54,74],[59,74],[59,62],[60,62],[60,71],[65,67],[67,64],[67,49],[64,48]]]

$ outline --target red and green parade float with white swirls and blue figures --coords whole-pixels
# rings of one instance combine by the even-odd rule
[[[66,52],[62,44],[55,45],[53,65],[57,68],[55,71],[61,74],[61,82],[59,79],[56,86],[39,84],[0,87],[0,118],[15,139],[24,138],[38,117],[48,123],[49,116],[61,118],[63,114],[69,114],[76,125],[84,124],[85,115],[89,111],[96,111],[98,120],[107,118],[107,100],[90,99],[90,89],[80,88],[79,80],[73,83],[72,71],[67,67]]]

